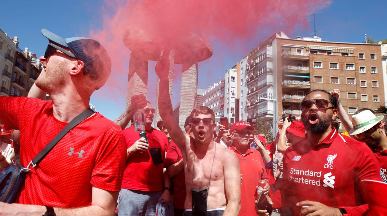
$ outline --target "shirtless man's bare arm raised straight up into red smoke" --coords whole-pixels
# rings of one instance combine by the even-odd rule
[[[172,114],[172,102],[169,95],[169,80],[168,80],[168,73],[169,73],[169,60],[168,55],[169,51],[164,50],[163,56],[160,57],[160,59],[157,61],[157,65],[155,66],[154,70],[156,71],[156,74],[158,75],[160,82],[159,82],[159,113],[161,119],[163,119],[164,125],[168,130],[168,133],[170,134],[170,137],[172,140],[176,143],[176,145],[180,148],[183,155],[185,150],[186,143],[189,142],[189,136],[188,134],[184,133],[182,129],[180,129],[180,126],[178,122],[176,122],[175,117],[173,117]]]

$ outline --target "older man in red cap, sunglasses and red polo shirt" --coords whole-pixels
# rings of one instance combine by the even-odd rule
[[[267,182],[265,192],[269,191],[269,178],[266,174],[262,156],[259,151],[250,147],[249,138],[253,130],[252,126],[243,121],[235,122],[230,129],[232,146],[229,149],[233,150],[238,157],[241,174],[243,175],[241,181],[241,210],[239,212],[241,216],[255,214],[254,201],[259,180]]]

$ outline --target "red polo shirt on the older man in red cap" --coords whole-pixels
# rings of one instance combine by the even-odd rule
[[[241,182],[241,210],[239,215],[256,215],[254,201],[258,181],[269,181],[262,156],[259,151],[252,148],[249,148],[245,155],[242,155],[234,146],[230,146],[229,149],[233,150],[238,157],[243,178]]]

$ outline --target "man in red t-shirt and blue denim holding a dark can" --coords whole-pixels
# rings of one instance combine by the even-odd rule
[[[128,161],[118,201],[118,215],[120,216],[154,216],[159,199],[165,199],[169,204],[169,178],[164,181],[163,189],[163,161],[165,151],[168,149],[168,139],[164,132],[152,128],[154,113],[155,110],[151,103],[147,102],[144,108],[147,143],[144,139],[140,139],[140,131],[134,131],[134,126],[123,130],[127,143]],[[158,151],[155,157],[152,157],[151,150],[154,149]],[[162,161],[154,160],[156,157],[161,158]]]

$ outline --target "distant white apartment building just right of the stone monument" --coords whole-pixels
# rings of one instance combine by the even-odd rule
[[[214,111],[216,125],[220,124],[220,118],[224,117],[224,114],[225,114],[224,92],[225,92],[225,83],[223,78],[219,82],[214,83],[214,85],[211,85],[203,93],[203,105],[211,108]]]

